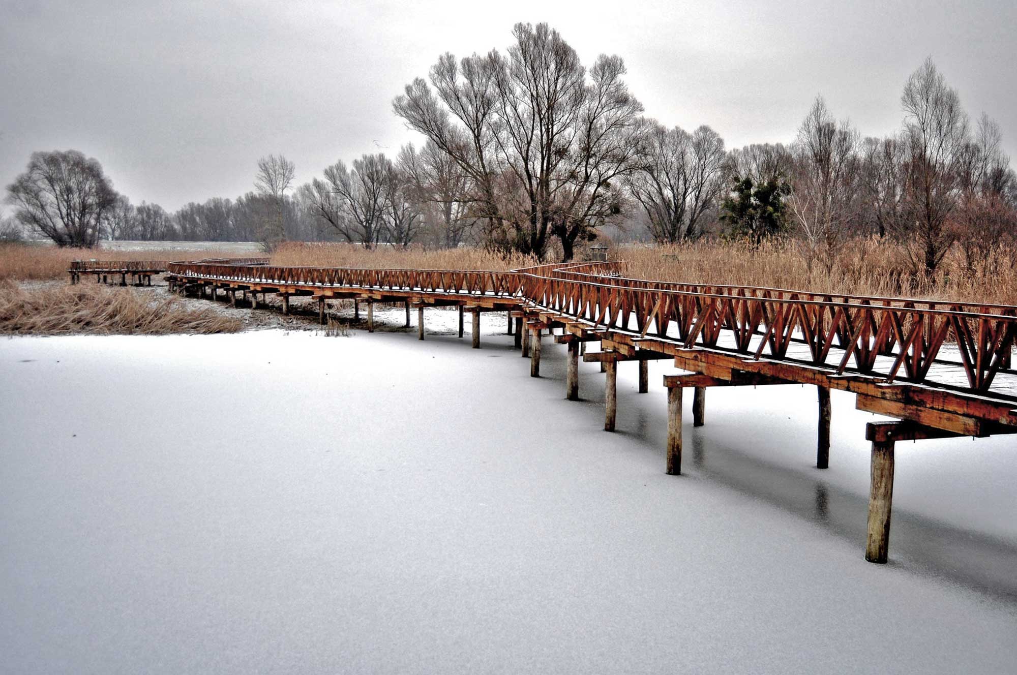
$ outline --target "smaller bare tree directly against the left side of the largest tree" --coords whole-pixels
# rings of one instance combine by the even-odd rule
[[[459,246],[477,222],[470,212],[469,181],[459,165],[428,140],[419,152],[412,143],[403,146],[399,167],[412,181],[418,200],[435,209],[441,245]]]

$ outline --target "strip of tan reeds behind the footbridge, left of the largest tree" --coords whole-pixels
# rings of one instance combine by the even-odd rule
[[[282,244],[272,255],[274,265],[306,267],[368,267],[376,269],[486,269],[504,271],[537,264],[533,256],[502,255],[482,248],[424,250],[411,247],[364,249],[354,244]]]

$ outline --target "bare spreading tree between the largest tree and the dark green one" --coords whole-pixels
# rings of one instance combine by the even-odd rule
[[[726,184],[724,140],[708,126],[689,133],[657,125],[649,136],[647,161],[629,186],[650,233],[663,244],[698,237],[701,219]]]

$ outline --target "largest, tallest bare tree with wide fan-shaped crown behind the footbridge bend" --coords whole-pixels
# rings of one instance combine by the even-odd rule
[[[473,214],[504,246],[572,259],[581,238],[616,216],[621,179],[642,159],[646,125],[620,58],[587,69],[546,23],[517,23],[506,56],[444,54],[430,84],[408,84],[396,114],[470,181]]]

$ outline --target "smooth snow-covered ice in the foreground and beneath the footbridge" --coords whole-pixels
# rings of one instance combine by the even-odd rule
[[[820,472],[814,389],[711,390],[670,477],[672,368],[611,434],[427,321],[0,341],[0,671],[1013,672],[1007,437],[899,444],[873,565],[851,396]]]

